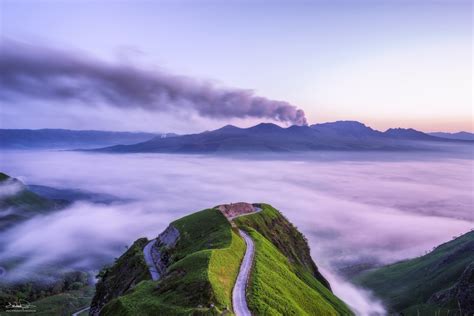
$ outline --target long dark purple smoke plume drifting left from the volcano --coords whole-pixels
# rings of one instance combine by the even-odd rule
[[[117,108],[173,112],[191,109],[216,119],[259,118],[307,124],[304,111],[285,101],[257,96],[251,90],[217,87],[129,64],[112,64],[78,53],[2,41],[0,99],[74,101]],[[20,102],[17,102],[20,103]]]

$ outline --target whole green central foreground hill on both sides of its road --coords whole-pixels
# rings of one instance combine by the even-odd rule
[[[271,227],[264,224],[252,228],[248,221],[255,215],[236,220],[250,232],[256,246],[247,291],[253,312],[351,315],[317,272],[304,237],[278,211],[262,207],[255,219],[266,221],[269,216],[269,223],[281,225],[281,238],[273,236],[272,240]],[[179,232],[176,241],[168,242],[169,235],[163,233],[153,246],[162,265],[160,279],[153,281],[147,273],[143,249],[149,241],[139,239],[101,272],[92,315],[232,314],[232,290],[246,249],[236,225],[212,208],[181,218],[170,227]],[[282,247],[285,241],[287,248]]]

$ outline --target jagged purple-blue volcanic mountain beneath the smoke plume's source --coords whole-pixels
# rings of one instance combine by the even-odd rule
[[[261,123],[249,128],[220,129],[176,137],[155,137],[133,145],[98,149],[102,152],[224,153],[300,152],[314,150],[421,150],[441,143],[471,143],[425,134],[414,129],[374,130],[355,121],[283,128]],[[471,144],[474,144],[471,143]]]

